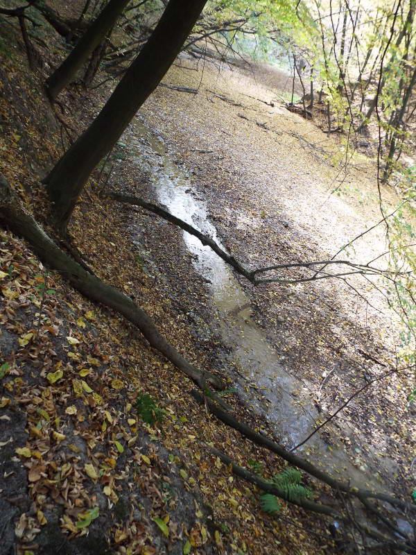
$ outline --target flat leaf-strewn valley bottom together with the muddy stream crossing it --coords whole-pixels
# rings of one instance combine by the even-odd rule
[[[194,84],[189,82],[189,74],[181,73],[178,69],[171,71],[169,76],[175,84],[178,81],[184,86]],[[247,100],[241,98],[241,95],[250,96],[245,94],[251,92],[247,91],[247,77],[243,77],[244,93],[241,88],[237,89],[236,83],[232,81],[234,77],[228,73],[221,79],[205,68],[205,88],[201,85],[196,99],[180,96],[180,100],[184,98],[182,105],[173,102],[174,92],[158,89],[155,99],[146,103],[143,114],[130,127],[127,135],[131,141],[129,157],[137,159],[135,163],[146,173],[146,185],[133,189],[133,194],[164,205],[175,216],[216,239],[248,266],[263,260],[266,263],[275,262],[275,248],[269,248],[274,241],[275,246],[279,246],[277,262],[287,261],[288,256],[291,259],[304,259],[305,253],[299,250],[300,246],[306,248],[308,259],[324,259],[332,255],[331,245],[342,244],[345,237],[351,238],[356,229],[376,217],[376,206],[372,204],[371,161],[361,158],[356,167],[352,167],[347,178],[350,185],[344,196],[327,198],[328,185],[325,180],[331,183],[338,173],[329,156],[331,145],[328,145],[327,139],[322,141],[322,134],[313,129],[311,123],[282,110],[281,106],[276,106],[270,115],[270,108],[262,108],[259,103],[249,102],[247,105]],[[235,103],[239,105],[237,108],[229,108],[229,103],[215,100],[209,88],[212,87],[212,79],[217,86],[218,96],[225,95],[225,98],[236,100]],[[255,86],[258,96],[269,98],[266,95],[270,92]],[[202,116],[198,112],[196,106],[199,95],[208,96],[215,103],[215,118],[213,114]],[[239,128],[235,121],[240,112],[258,112],[261,116],[255,117],[261,121],[268,117],[270,123],[266,125],[266,132],[256,125],[254,129],[262,140],[266,133],[266,140],[271,139],[273,148],[276,148],[277,137],[284,137],[284,133],[293,136],[291,126],[297,129],[295,135],[300,137],[296,146],[297,157],[291,157],[291,153],[294,153],[292,147],[292,151],[286,153],[289,160],[286,167],[285,160],[278,159],[281,172],[279,178],[277,174],[274,177],[279,181],[278,186],[270,187],[272,167],[270,159],[267,160],[270,148],[264,148],[261,143],[259,149],[259,137],[254,134],[253,126],[249,142],[251,150],[247,156],[247,148],[242,146],[243,137],[248,137],[246,123],[243,121]],[[234,130],[234,140],[229,138],[232,135],[227,131],[228,122],[232,123],[233,127],[229,130]],[[300,124],[308,127],[309,141],[313,139],[315,145],[324,144],[324,147],[316,147],[322,151],[320,156],[316,155],[316,148],[304,149],[300,146],[303,142]],[[150,130],[152,127],[154,131]],[[320,136],[320,142],[317,136]],[[125,139],[125,142],[128,140]],[[241,147],[241,152],[231,150],[236,148],[236,144]],[[304,153],[302,156],[299,149]],[[271,166],[275,163],[276,157]],[[248,167],[248,164],[251,165]],[[363,171],[364,180],[361,176]],[[253,174],[257,179],[250,183]],[[318,175],[320,187],[316,187],[314,192],[302,192],[300,187],[316,180]],[[364,185],[362,198],[357,200],[348,191],[355,190],[358,178]],[[247,182],[250,187],[247,187]],[[265,198],[262,199],[260,194],[264,194]],[[367,205],[363,198],[367,200]],[[289,210],[294,200],[299,221]],[[315,207],[306,204],[311,200],[312,205],[323,202],[325,210],[313,212]],[[300,210],[304,210],[304,213]],[[310,219],[312,214],[315,221]],[[335,227],[331,218],[336,222]],[[149,220],[155,222],[154,218]],[[146,228],[147,240],[153,235],[150,242],[155,250],[157,241],[165,235],[167,224],[156,221],[156,225],[157,236],[154,236],[150,227]],[[372,305],[376,305],[376,309],[372,310],[368,305],[364,309],[360,307],[360,299],[344,284],[340,287],[338,283],[325,287],[293,287],[286,289],[288,294],[275,285],[254,290],[240,277],[234,277],[223,261],[208,247],[202,247],[198,239],[182,234],[180,230],[170,231],[170,237],[172,233],[175,248],[169,250],[170,247],[166,246],[168,252],[162,253],[155,262],[159,272],[168,276],[165,275],[169,283],[166,289],[171,288],[175,298],[175,282],[182,283],[182,291],[189,291],[189,284],[195,284],[191,302],[184,302],[183,296],[180,296],[180,299],[177,297],[177,305],[182,304],[182,309],[184,304],[188,305],[183,310],[191,317],[196,329],[196,340],[202,341],[202,344],[207,342],[216,345],[215,354],[211,353],[213,363],[227,368],[239,396],[268,421],[285,445],[293,446],[302,440],[315,422],[322,421],[333,406],[339,404],[347,391],[361,384],[363,359],[367,364],[365,372],[372,376],[382,373],[385,363],[391,360],[386,349],[389,343],[386,345],[381,339],[386,334],[392,334],[395,321],[385,320],[382,327],[377,323],[377,310],[385,310],[385,306],[381,306],[381,298],[372,296]],[[374,253],[382,248],[380,235],[374,234],[358,245],[357,255]],[[283,261],[281,256],[284,257]],[[179,262],[180,257],[185,257],[187,262]],[[176,275],[171,273],[169,268],[172,267],[177,271]],[[281,314],[276,311],[279,305],[279,312],[291,309],[294,314],[281,318]],[[313,325],[308,329],[311,318]],[[317,330],[317,321],[323,324],[322,329],[318,331],[319,339],[314,336],[311,341],[313,332]],[[201,330],[204,330],[203,333]],[[302,349],[300,352],[299,348]],[[304,368],[300,372],[301,366]],[[331,380],[336,383],[331,384]],[[333,386],[336,386],[335,390]],[[327,390],[326,395],[324,389]],[[374,389],[374,396],[366,393],[366,398],[354,402],[342,418],[324,429],[322,437],[314,436],[302,452],[319,461],[327,470],[332,469],[338,474],[347,473],[362,486],[388,489],[399,484],[403,490],[406,488],[404,480],[409,479],[407,471],[411,456],[408,453],[404,459],[398,460],[392,454],[390,445],[392,441],[397,445],[399,436],[392,437],[385,430],[381,419],[372,413],[376,411],[381,414],[380,411],[386,408],[391,410],[388,398],[390,395],[401,396],[402,385],[398,391],[394,391],[394,386],[384,388],[383,385]],[[383,393],[379,395],[381,391]],[[402,399],[402,408],[397,409],[404,411],[410,430],[404,443],[411,445],[414,443],[413,425],[404,397]],[[370,419],[369,413],[372,413]],[[396,418],[401,417],[396,415],[389,420],[392,426],[398,422]],[[374,430],[370,432],[372,427],[380,427],[380,432],[378,429],[376,433]],[[408,441],[410,444],[406,443]],[[406,450],[407,447],[401,444],[400,448]]]

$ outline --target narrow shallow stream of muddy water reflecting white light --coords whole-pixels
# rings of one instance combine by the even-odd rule
[[[197,197],[191,188],[189,174],[173,162],[163,142],[138,119],[135,134],[129,140],[137,164],[150,173],[159,204],[222,246],[216,228],[209,221],[207,205]],[[216,313],[213,325],[229,348],[230,354],[224,356],[236,390],[268,421],[283,445],[297,445],[311,432],[318,419],[318,413],[306,394],[307,384],[299,382],[279,361],[278,353],[255,321],[250,298],[229,266],[193,235],[184,232],[183,240],[189,253],[194,255],[196,271],[209,284]],[[349,430],[345,429],[345,434],[348,433]],[[302,452],[334,476],[348,475],[356,486],[383,489],[383,484],[375,477],[374,471],[380,470],[377,462],[365,460],[363,452],[353,464],[343,448],[329,447],[319,434],[298,450],[299,454]],[[372,472],[367,463],[372,466]],[[383,474],[390,475],[393,470],[387,466],[383,468]]]

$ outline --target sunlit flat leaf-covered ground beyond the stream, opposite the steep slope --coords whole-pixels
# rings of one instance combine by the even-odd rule
[[[182,63],[196,67],[191,60]],[[381,219],[375,160],[356,153],[345,167],[339,140],[328,139],[314,121],[288,112],[255,74],[249,78],[246,71],[242,74],[227,67],[219,71],[208,63],[202,69],[200,62],[198,72],[173,68],[165,82],[198,87],[199,92],[190,95],[159,87],[140,118],[162,138],[171,160],[187,167],[189,194],[205,203],[207,218],[214,223],[220,241],[246,267],[329,259]],[[135,133],[134,125],[126,136],[131,133]],[[134,160],[135,156],[133,149],[130,157]],[[157,187],[155,190],[146,175],[139,187],[129,175],[116,182],[116,188],[157,200]],[[393,210],[394,191],[385,187],[383,199]],[[150,220],[153,223],[157,218],[150,216]],[[198,219],[193,223],[198,227]],[[187,313],[202,318],[196,333],[198,327],[218,331],[221,307],[213,300],[206,279],[209,273],[189,264],[186,248],[188,262],[183,266],[182,232],[171,228],[159,222],[157,231],[146,233],[152,252],[161,233],[169,237],[157,249],[157,266],[173,268],[173,272],[165,270],[165,279],[176,302],[187,307]],[[346,251],[347,258],[368,262],[383,253],[384,233],[379,226],[366,234]],[[196,280],[198,273],[205,281],[203,287],[201,279]],[[308,275],[311,273],[288,271],[279,277]],[[253,287],[238,278],[250,301],[250,320],[264,330],[281,366],[298,380],[295,395],[309,398],[321,420],[366,379],[382,375],[396,364],[399,325],[395,314],[368,280],[354,278],[286,287]],[[211,311],[207,311],[210,304]],[[228,310],[239,308],[223,304]],[[232,326],[232,317],[228,322]],[[231,332],[228,341],[224,336],[222,341],[225,350],[235,350]],[[261,364],[261,353],[257,355],[256,362]],[[254,385],[250,388],[252,400],[266,395],[263,404],[270,405],[267,397],[272,387],[256,393],[256,379],[252,373],[249,378],[247,385]],[[394,488],[405,495],[414,480],[410,464],[415,449],[413,412],[406,403],[408,379],[396,375],[387,383],[374,384],[327,427],[331,450],[342,445],[353,465],[365,470],[362,481],[365,475],[378,475],[381,483],[393,487],[395,482]],[[269,406],[263,412],[273,409]]]

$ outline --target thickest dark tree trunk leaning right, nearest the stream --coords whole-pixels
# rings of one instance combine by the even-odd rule
[[[96,164],[110,152],[132,117],[159,84],[207,0],[171,0],[144,48],[132,62],[89,128],[69,148],[44,182],[54,216],[66,227],[76,200]]]

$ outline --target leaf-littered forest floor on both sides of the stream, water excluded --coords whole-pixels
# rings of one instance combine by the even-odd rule
[[[59,106],[52,110],[42,83],[62,46],[51,40],[42,67],[31,74],[15,29],[2,33],[1,171],[48,229],[40,178],[62,154],[66,133],[78,135],[110,89],[71,87],[60,100],[63,113]],[[196,69],[193,60],[178,64]],[[374,161],[358,157],[343,173],[332,139],[313,121],[257,101],[275,96],[250,76],[209,62],[197,69],[171,69],[164,83],[198,87],[198,94],[158,87],[106,169],[94,174],[71,233],[101,279],[134,296],[187,359],[227,377],[233,387],[234,340],[223,333],[211,284],[182,232],[99,196],[112,165],[108,185],[157,200],[154,153],[147,167],[138,162],[137,144],[146,151],[142,124],[187,173],[189,194],[205,203],[218,237],[247,265],[327,258],[380,214]],[[340,196],[330,195],[338,185]],[[354,256],[371,258],[382,248],[381,237],[367,237]],[[121,318],[44,268],[7,230],[0,269],[5,554],[345,552],[315,515],[292,506],[276,518],[262,513],[257,490],[232,477],[207,444],[243,466],[257,461],[265,476],[284,468],[282,461],[209,417],[189,395],[189,379]],[[238,282],[250,299],[250,317],[281,365],[302,380],[299,395],[318,404],[321,418],[362,384],[364,370],[373,377],[395,364],[395,321],[363,305],[345,284],[254,289]],[[365,294],[385,310],[374,291]],[[259,409],[264,392],[254,378],[250,382]],[[327,434],[329,450],[342,443],[345,461],[363,466],[364,476],[379,471],[381,487],[406,498],[414,485],[415,449],[409,387],[399,374],[367,390],[343,414],[349,433],[333,425]],[[164,409],[158,425],[146,425],[135,410],[140,393]],[[227,400],[242,420],[275,434],[278,411],[268,421],[244,398]],[[306,484],[313,487],[311,480]],[[320,490],[317,497],[329,494]]]

